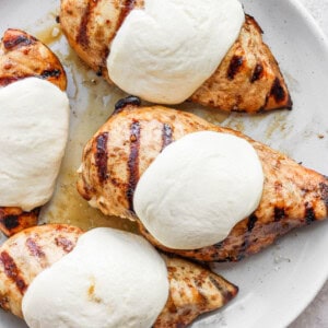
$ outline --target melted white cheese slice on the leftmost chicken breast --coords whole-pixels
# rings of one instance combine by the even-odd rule
[[[27,78],[0,89],[0,206],[46,203],[63,156],[69,99],[52,83]]]

